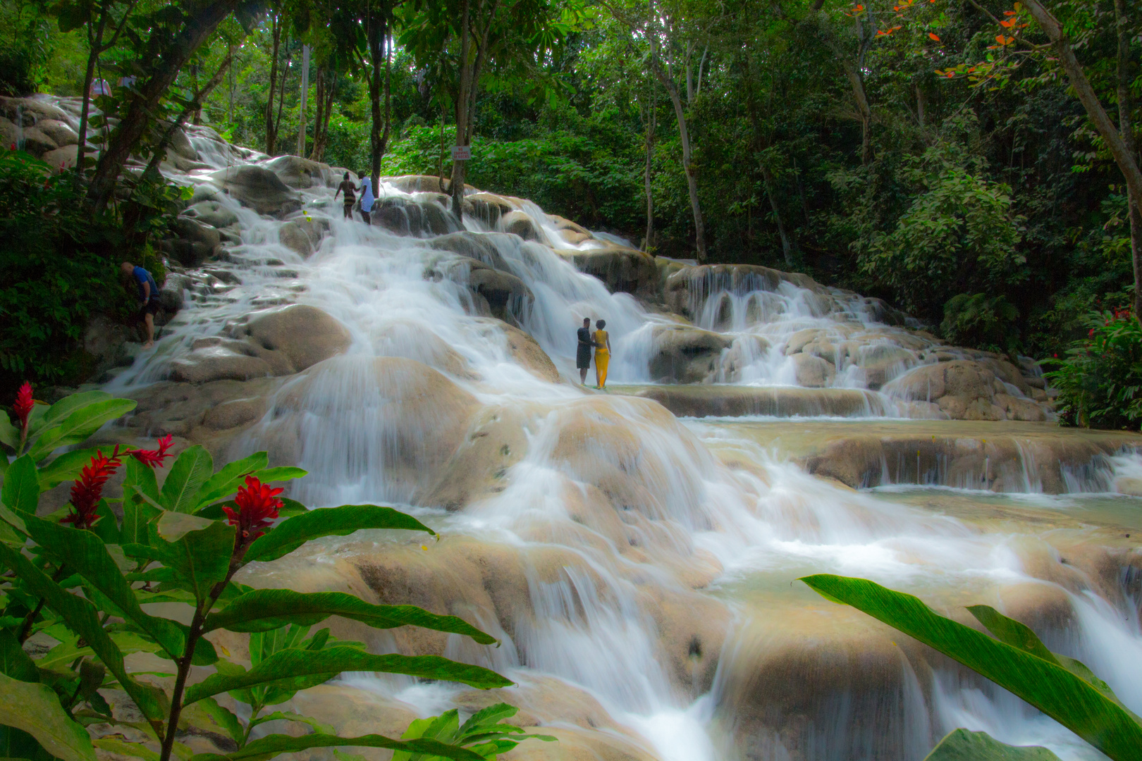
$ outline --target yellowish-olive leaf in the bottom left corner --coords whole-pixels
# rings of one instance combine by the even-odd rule
[[[0,723],[26,731],[63,761],[95,761],[87,730],[64,713],[47,685],[0,674]]]

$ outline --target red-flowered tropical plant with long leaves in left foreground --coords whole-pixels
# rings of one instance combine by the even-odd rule
[[[473,731],[436,732],[443,739],[425,732],[408,739],[339,737],[306,717],[264,713],[343,671],[408,674],[483,689],[510,682],[435,655],[372,655],[360,643],[331,638],[328,629],[309,633],[311,626],[336,615],[377,629],[415,625],[484,645],[496,641],[456,616],[409,605],[370,605],[343,592],[254,589],[234,581],[247,564],[274,560],[321,536],[361,528],[434,533],[411,516],[371,504],[307,511],[270,485],[305,471],[270,468],[265,452],[216,471],[210,454],[191,446],[174,459],[160,487],[155,470],[172,458],[169,436],[154,450],[116,445],[110,452],[69,452],[48,461],[59,447],[82,442],[134,406],[102,391],[48,406],[37,403],[25,383],[13,405],[15,424],[0,415],[0,442],[16,455],[10,464],[7,455],[0,458],[6,469],[0,566],[7,568],[0,581],[3,755],[93,761],[93,740],[83,726],[112,723],[129,726],[146,739],[104,737],[94,745],[148,761],[168,761],[172,754],[182,761],[260,761],[345,746],[481,761],[490,754],[481,743],[494,744],[514,731],[489,724],[494,719],[485,713],[465,724]],[[105,497],[104,486],[120,469],[123,496]],[[72,479],[69,504],[38,516],[40,493]],[[118,510],[111,507],[114,502]],[[184,604],[190,623],[144,610],[154,602]],[[249,633],[249,667],[211,642],[209,634],[222,630]],[[33,637],[55,645],[25,650]],[[160,686],[128,671],[124,656],[139,651],[171,662],[172,673],[161,675],[172,677],[172,683]],[[210,666],[214,673],[192,685],[192,666]],[[126,693],[137,709],[137,714],[126,715],[137,719],[113,711],[100,689]],[[219,703],[217,696],[224,694],[247,704],[249,719],[240,720]],[[279,719],[303,722],[313,731],[250,739],[257,726]],[[178,742],[178,732],[193,727],[228,735],[233,750],[194,755]]]

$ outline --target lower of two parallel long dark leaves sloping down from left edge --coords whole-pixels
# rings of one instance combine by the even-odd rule
[[[164,718],[167,696],[156,688],[140,685],[127,673],[123,654],[99,624],[99,614],[95,606],[61,588],[32,565],[23,553],[3,544],[0,544],[0,562],[15,570],[29,592],[43,598],[48,607],[63,617],[69,629],[87,640],[91,650],[119,680],[147,719],[154,721]]]

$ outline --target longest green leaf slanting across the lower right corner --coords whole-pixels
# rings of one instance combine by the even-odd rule
[[[1142,759],[1142,726],[1091,682],[1021,647],[938,615],[918,598],[864,578],[802,581],[940,650],[1014,693],[1116,761]]]

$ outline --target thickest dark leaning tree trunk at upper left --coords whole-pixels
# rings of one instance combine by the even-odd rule
[[[127,114],[112,135],[106,149],[99,156],[88,199],[95,211],[106,208],[115,189],[115,183],[123,165],[131,155],[143,135],[146,132],[150,114],[156,113],[159,102],[174,84],[183,65],[194,55],[206,40],[234,8],[240,0],[215,0],[194,16],[178,33],[175,42],[167,46],[155,57],[155,67],[138,92],[131,98]]]

